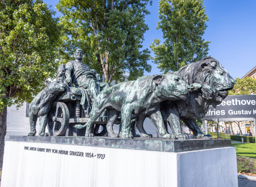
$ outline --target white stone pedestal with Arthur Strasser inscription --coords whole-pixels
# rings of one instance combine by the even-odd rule
[[[236,148],[171,153],[6,141],[1,180],[1,187],[238,187]]]

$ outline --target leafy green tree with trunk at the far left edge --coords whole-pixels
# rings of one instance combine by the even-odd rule
[[[60,26],[42,0],[0,1],[0,164],[7,106],[30,102],[53,78]]]

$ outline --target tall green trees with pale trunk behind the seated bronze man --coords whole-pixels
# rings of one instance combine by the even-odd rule
[[[148,49],[140,50],[148,26],[144,22],[149,0],[60,0],[64,26],[62,61],[68,62],[76,48],[85,52],[86,64],[112,80],[124,80],[124,69],[130,71],[129,80],[150,72]],[[150,4],[152,1],[150,1]],[[71,38],[70,38],[71,37]]]

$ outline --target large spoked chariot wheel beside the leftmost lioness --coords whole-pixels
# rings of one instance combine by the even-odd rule
[[[47,127],[52,136],[61,136],[69,124],[69,110],[65,103],[55,102],[48,114]]]

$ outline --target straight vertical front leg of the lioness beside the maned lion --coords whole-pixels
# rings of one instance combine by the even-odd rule
[[[122,121],[122,138],[133,138],[130,133],[130,122],[132,119],[132,106],[130,104],[124,104],[121,108],[121,121]]]

